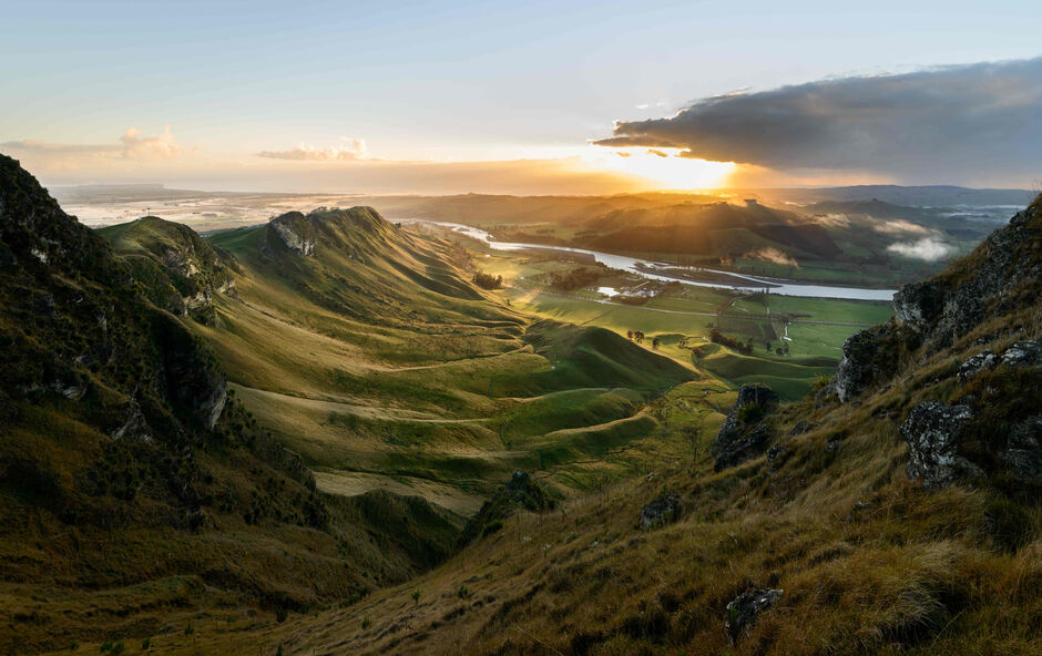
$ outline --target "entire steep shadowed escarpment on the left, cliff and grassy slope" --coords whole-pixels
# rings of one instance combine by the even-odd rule
[[[145,227],[191,255],[163,271],[219,270],[194,234]],[[216,599],[348,598],[443,557],[456,520],[426,502],[384,499],[422,529],[378,543],[396,529],[367,500],[319,493],[140,271],[0,156],[0,652],[147,634]]]

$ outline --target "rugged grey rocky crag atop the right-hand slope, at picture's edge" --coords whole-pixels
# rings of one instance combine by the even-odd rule
[[[908,473],[927,488],[985,478],[1042,483],[1040,206],[1042,198],[937,277],[906,285],[890,322],[844,345],[830,383],[840,402],[895,388],[921,399],[900,433]]]

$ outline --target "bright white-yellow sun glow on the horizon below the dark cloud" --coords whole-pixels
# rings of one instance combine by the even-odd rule
[[[722,186],[737,166],[681,156],[681,148],[591,146],[597,166],[644,178],[662,189],[706,189]]]

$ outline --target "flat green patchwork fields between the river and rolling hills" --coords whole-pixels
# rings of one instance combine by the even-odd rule
[[[476,243],[468,243],[480,248]],[[806,394],[819,376],[829,376],[841,353],[842,342],[859,326],[886,321],[890,306],[878,301],[748,295],[693,285],[671,286],[641,305],[619,303],[595,288],[603,285],[640,285],[639,276],[604,271],[591,288],[561,290],[546,284],[546,275],[574,269],[575,263],[545,255],[481,252],[479,265],[502,275],[509,287],[502,293],[512,307],[540,317],[600,326],[620,335],[639,330],[645,345],[656,339],[656,351],[702,376],[732,386],[755,380],[770,383],[785,400]],[[542,284],[540,284],[542,283]],[[726,317],[717,315],[724,308]],[[744,316],[774,317],[772,320]],[[783,321],[783,317],[790,320]],[[740,353],[713,344],[716,327],[743,342],[753,340],[753,351]],[[767,344],[769,342],[769,349]],[[777,349],[787,347],[784,355]],[[696,355],[701,352],[701,357]]]

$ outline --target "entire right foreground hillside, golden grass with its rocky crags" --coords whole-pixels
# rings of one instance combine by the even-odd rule
[[[433,571],[203,632],[233,654],[1036,654],[1040,281],[1042,198],[902,288],[815,394],[680,386],[648,408],[691,437],[674,467],[563,505],[512,476]],[[697,430],[722,413],[715,438]],[[728,447],[745,451],[721,465]]]

